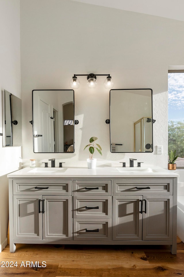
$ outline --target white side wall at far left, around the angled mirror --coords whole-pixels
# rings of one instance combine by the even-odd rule
[[[0,95],[7,90],[21,98],[20,78],[20,0],[0,0]],[[0,97],[2,133],[2,96]],[[0,136],[0,252],[7,244],[7,174],[22,166],[21,147],[2,147]]]

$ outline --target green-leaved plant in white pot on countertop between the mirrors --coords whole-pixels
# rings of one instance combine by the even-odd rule
[[[100,155],[102,155],[101,146],[99,144],[95,143],[95,141],[97,139],[98,139],[97,137],[91,137],[89,139],[89,144],[87,144],[84,148],[84,150],[85,150],[89,146],[89,159],[87,159],[87,167],[88,168],[95,168],[96,167],[97,159],[93,159],[93,153],[94,153],[95,149],[99,152]]]

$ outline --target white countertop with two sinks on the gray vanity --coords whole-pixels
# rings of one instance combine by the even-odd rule
[[[122,168],[96,167],[95,169],[62,167],[62,168],[23,168],[7,175],[9,178],[159,178],[179,177],[174,170],[159,167]]]

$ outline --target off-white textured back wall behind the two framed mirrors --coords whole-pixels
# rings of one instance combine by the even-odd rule
[[[20,0],[21,78],[23,100],[23,166],[35,158],[37,165],[49,158],[65,166],[87,166],[91,136],[97,136],[103,156],[97,165],[129,163],[129,158],[167,168],[169,65],[184,64],[184,22],[128,12],[70,0]],[[75,153],[33,153],[33,89],[70,89],[74,74],[109,74],[113,89],[153,90],[153,153],[111,153],[109,91],[104,77],[97,77],[96,90],[86,85],[75,91]],[[156,155],[156,145],[163,154]]]

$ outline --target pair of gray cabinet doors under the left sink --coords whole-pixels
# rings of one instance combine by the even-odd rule
[[[71,197],[20,195],[13,206],[15,239],[72,239]]]

